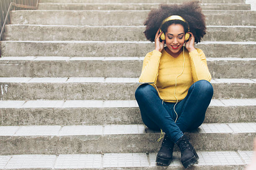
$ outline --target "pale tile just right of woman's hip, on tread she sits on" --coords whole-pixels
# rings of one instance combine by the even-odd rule
[[[226,124],[206,123],[197,128],[198,133],[233,133],[233,130]]]

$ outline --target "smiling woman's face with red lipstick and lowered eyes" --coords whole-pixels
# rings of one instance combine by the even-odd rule
[[[172,53],[177,53],[182,49],[185,42],[184,28],[180,24],[172,24],[165,32],[165,43]]]

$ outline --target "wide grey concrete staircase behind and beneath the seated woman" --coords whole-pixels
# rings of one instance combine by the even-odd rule
[[[160,132],[145,128],[134,92],[154,44],[143,35],[159,3],[40,0],[12,11],[0,42],[0,169],[164,169]],[[256,11],[245,0],[201,0],[214,96],[187,133],[193,170],[241,170],[256,136]],[[175,148],[168,169],[183,169]]]

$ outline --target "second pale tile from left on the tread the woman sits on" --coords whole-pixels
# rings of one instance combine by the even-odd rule
[[[52,136],[58,135],[61,126],[21,126],[15,136]]]

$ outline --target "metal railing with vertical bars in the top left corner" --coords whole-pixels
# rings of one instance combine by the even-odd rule
[[[0,0],[0,41],[3,39],[5,25],[10,24],[11,10],[37,10],[39,0]],[[1,56],[1,49],[0,49]]]

